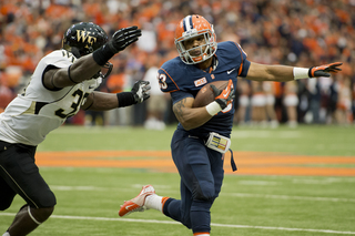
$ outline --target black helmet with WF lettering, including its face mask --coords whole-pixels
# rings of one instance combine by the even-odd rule
[[[104,30],[92,22],[80,22],[71,25],[63,35],[62,48],[71,52],[75,58],[90,54],[97,49],[100,49],[109,41]],[[103,68],[105,74],[99,72],[94,78],[102,75],[109,76],[112,71],[112,64],[108,62]]]

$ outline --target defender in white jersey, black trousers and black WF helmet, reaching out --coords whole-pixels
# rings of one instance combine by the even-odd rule
[[[36,147],[45,135],[80,109],[106,111],[141,103],[150,84],[136,82],[130,92],[94,91],[112,69],[109,60],[141,37],[141,30],[118,30],[109,40],[103,29],[81,22],[63,37],[63,49],[38,63],[26,91],[0,114],[0,209],[18,194],[24,201],[3,236],[28,235],[54,209],[55,196],[34,163]],[[101,73],[105,68],[108,73]]]

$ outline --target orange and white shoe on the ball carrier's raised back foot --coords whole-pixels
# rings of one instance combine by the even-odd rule
[[[124,201],[124,204],[119,211],[120,216],[126,216],[134,212],[143,212],[149,209],[145,204],[145,197],[149,195],[155,194],[154,187],[152,185],[145,185],[142,187],[141,193],[130,201]]]

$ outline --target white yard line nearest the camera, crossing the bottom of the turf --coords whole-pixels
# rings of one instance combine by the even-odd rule
[[[14,216],[14,213],[0,213],[0,216]],[[180,225],[180,223],[178,222],[158,220],[158,219],[108,218],[108,217],[62,216],[62,215],[52,215],[51,218],[101,220],[101,222],[153,223],[153,224],[169,224],[169,225],[179,224]],[[324,233],[324,234],[355,235],[355,232],[339,232],[339,230],[332,230],[332,229],[286,228],[286,227],[273,227],[273,226],[255,226],[255,225],[229,225],[229,224],[216,224],[216,223],[212,223],[211,225],[214,227],[224,227],[224,228],[257,228],[257,229],[267,229],[267,230],[313,232],[313,233]]]

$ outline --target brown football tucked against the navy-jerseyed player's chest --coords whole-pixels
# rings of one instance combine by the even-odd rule
[[[201,88],[195,96],[192,107],[202,107],[214,101],[214,94],[210,88],[211,84],[215,85],[219,90],[224,90],[229,84],[229,81],[214,81]]]

